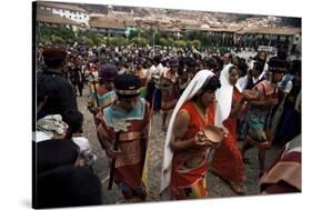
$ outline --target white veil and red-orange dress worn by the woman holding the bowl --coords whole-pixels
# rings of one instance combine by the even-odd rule
[[[174,138],[173,124],[178,114],[189,114],[189,130],[182,140],[191,139],[197,132],[203,129],[207,123],[213,124],[214,109],[209,107],[207,117],[200,114],[195,103],[190,101],[195,93],[200,91],[203,84],[214,74],[209,70],[202,70],[197,73],[194,79],[180,97],[172,117],[170,119],[168,133],[165,137],[163,166],[161,173],[160,192],[162,199],[191,199],[207,198],[205,186],[207,157],[209,149],[188,150],[173,153],[170,142]]]

